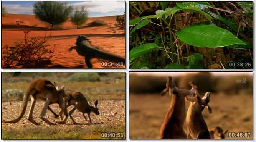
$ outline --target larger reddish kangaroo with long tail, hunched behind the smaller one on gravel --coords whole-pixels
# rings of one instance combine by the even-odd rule
[[[65,102],[63,100],[63,97],[65,97],[65,91],[64,86],[61,88],[55,87],[54,84],[52,84],[50,81],[46,79],[36,79],[30,83],[28,86],[28,89],[26,90],[24,96],[23,96],[23,103],[22,103],[22,110],[20,111],[20,114],[17,118],[9,121],[4,121],[5,123],[17,123],[20,121],[20,119],[23,117],[26,111],[26,107],[28,104],[28,98],[31,96],[31,106],[28,114],[28,120],[35,124],[39,125],[39,123],[36,123],[35,120],[33,120],[33,110],[35,107],[35,103],[37,99],[45,99],[45,105],[43,107],[43,111],[41,112],[40,118],[48,123],[49,125],[56,125],[55,123],[51,123],[48,119],[45,118],[46,110],[51,110],[50,104],[58,103],[61,110],[65,113],[65,118],[61,121],[57,121],[57,123],[65,123],[66,119],[68,118],[68,112],[66,110]],[[52,111],[52,110],[51,110]]]

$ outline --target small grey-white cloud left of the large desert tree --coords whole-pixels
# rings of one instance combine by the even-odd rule
[[[8,13],[33,13],[33,6],[22,6],[18,4],[3,4]]]

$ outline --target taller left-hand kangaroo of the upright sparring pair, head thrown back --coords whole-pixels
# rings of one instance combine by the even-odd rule
[[[160,129],[160,139],[186,139],[187,135],[183,130],[185,122],[185,97],[192,95],[194,88],[191,90],[178,89],[172,77],[167,77],[166,88],[161,92],[172,95],[172,102],[165,115],[164,123]]]

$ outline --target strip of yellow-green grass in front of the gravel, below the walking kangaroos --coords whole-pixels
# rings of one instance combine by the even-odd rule
[[[122,132],[122,138],[102,138],[102,132]],[[7,130],[2,129],[2,139],[125,139],[125,125],[119,124],[117,126],[102,126],[96,125],[94,127],[83,128],[81,126],[67,127],[61,129],[56,127],[23,127]]]

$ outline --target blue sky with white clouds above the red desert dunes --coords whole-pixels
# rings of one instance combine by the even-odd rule
[[[125,12],[125,1],[65,1],[74,9],[85,6],[89,17],[122,15]],[[33,4],[36,1],[2,1],[8,13],[33,14]]]

